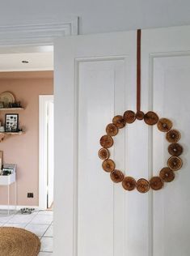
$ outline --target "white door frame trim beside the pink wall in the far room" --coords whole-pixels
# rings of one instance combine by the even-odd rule
[[[47,208],[47,104],[53,95],[39,96],[39,208]]]

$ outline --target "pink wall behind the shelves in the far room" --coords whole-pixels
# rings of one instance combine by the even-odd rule
[[[23,111],[19,113],[19,124],[26,131],[13,135],[0,143],[6,164],[17,164],[18,205],[38,205],[39,181],[39,95],[53,94],[53,72],[7,72],[0,73],[0,93],[11,92],[19,100]],[[11,112],[9,112],[11,113]],[[13,113],[13,112],[12,112]],[[0,122],[4,124],[4,112]],[[27,198],[33,192],[34,198]],[[11,185],[11,203],[14,186]],[[0,186],[0,204],[7,203],[7,188]]]

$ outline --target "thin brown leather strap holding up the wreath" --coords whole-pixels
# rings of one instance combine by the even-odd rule
[[[137,30],[137,112],[141,111],[141,29]]]

